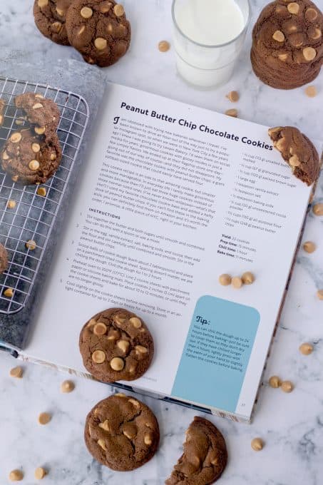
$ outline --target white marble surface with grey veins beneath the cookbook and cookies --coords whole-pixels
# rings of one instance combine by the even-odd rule
[[[43,39],[31,14],[32,0],[1,0],[0,47],[34,48],[58,58],[79,58],[72,48]],[[118,65],[106,69],[112,81],[163,94],[215,111],[232,107],[225,93],[238,89],[240,117],[268,125],[294,124],[312,138],[322,137],[323,73],[315,81],[319,96],[309,99],[304,88],[291,92],[264,86],[252,73],[249,42],[234,78],[222,88],[196,91],[176,75],[173,51],[158,52],[161,39],[171,39],[170,0],[124,1],[133,25],[130,52]],[[265,4],[253,1],[253,19]],[[319,0],[322,8],[323,2]],[[250,37],[250,36],[249,36]],[[1,58],[0,48],[0,58]],[[13,59],[14,62],[14,59]],[[1,71],[1,63],[0,63]],[[315,195],[323,201],[323,175]],[[211,418],[225,434],[229,464],[223,485],[320,485],[323,475],[323,302],[315,293],[323,288],[323,218],[309,215],[304,240],[317,242],[317,251],[300,250],[287,302],[275,337],[265,380],[251,425]],[[284,241],[282,241],[284,244]],[[275,262],[272,262],[275,264]],[[302,356],[298,347],[314,342],[314,353]],[[24,484],[34,485],[36,466],[50,473],[43,483],[56,485],[158,485],[163,484],[181,453],[183,433],[194,412],[145,399],[160,422],[160,449],[150,463],[132,473],[115,473],[99,466],[83,444],[83,422],[93,404],[111,388],[85,379],[74,379],[76,390],[61,394],[65,375],[53,369],[24,364],[24,379],[9,377],[16,362],[0,354],[0,484],[9,483],[11,469],[22,468]],[[271,389],[267,378],[280,374],[295,384],[292,394]],[[46,427],[37,423],[39,412],[53,413]],[[265,448],[256,453],[250,441],[262,436]]]

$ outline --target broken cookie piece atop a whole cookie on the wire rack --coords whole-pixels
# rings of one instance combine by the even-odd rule
[[[24,110],[28,121],[36,125],[37,134],[56,132],[60,113],[57,104],[51,99],[37,93],[24,93],[16,96],[14,102],[17,108]]]

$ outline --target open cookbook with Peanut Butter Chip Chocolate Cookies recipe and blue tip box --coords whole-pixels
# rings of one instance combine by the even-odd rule
[[[81,156],[91,103],[37,89],[59,101],[63,161],[41,202],[1,173],[11,273],[0,285],[17,290],[0,299],[1,347],[88,375],[81,327],[124,307],[148,325],[155,354],[143,377],[118,385],[249,421],[312,187],[268,127],[112,83]],[[16,218],[5,203],[15,191],[17,210],[30,208]],[[28,256],[27,238],[38,246]],[[239,290],[218,281],[246,271],[255,282]]]

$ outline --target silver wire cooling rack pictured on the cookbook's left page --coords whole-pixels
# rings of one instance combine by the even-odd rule
[[[88,104],[76,93],[0,76],[0,98],[6,103],[0,148],[14,131],[28,125],[14,104],[15,96],[26,92],[40,93],[57,103],[63,157],[55,175],[42,185],[14,183],[0,165],[0,242],[9,255],[8,269],[0,275],[0,313],[5,315],[19,312],[31,294],[89,116]],[[46,195],[39,195],[41,187]],[[9,208],[9,200],[16,203],[14,208]],[[26,246],[27,241],[36,242],[36,247]]]

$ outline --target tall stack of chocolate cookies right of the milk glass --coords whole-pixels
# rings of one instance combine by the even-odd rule
[[[272,88],[292,89],[317,77],[323,63],[323,14],[310,0],[265,6],[252,31],[255,74]]]

